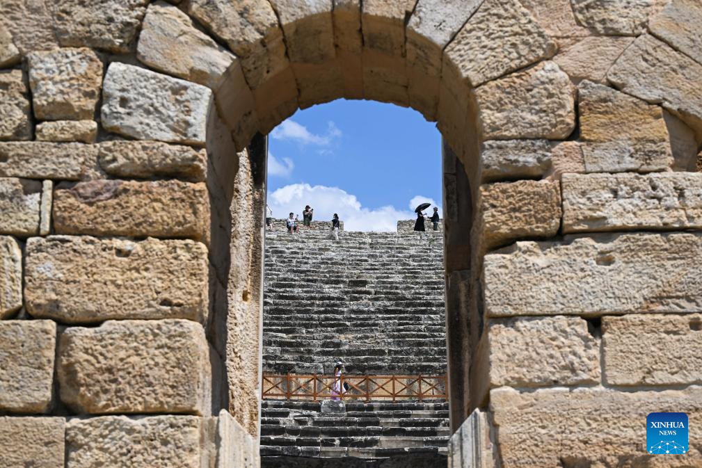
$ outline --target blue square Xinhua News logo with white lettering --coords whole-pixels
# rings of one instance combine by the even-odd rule
[[[687,415],[649,413],[646,417],[646,448],[654,455],[687,453]]]

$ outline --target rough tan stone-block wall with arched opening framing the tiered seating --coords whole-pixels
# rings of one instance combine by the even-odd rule
[[[0,0],[0,464],[258,467],[265,135],[348,98],[444,138],[449,466],[702,467],[701,31],[698,0]]]

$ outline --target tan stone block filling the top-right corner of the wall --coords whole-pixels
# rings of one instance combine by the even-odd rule
[[[702,63],[702,4],[696,0],[673,0],[651,18],[649,31],[676,51]]]

